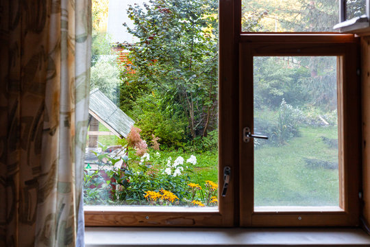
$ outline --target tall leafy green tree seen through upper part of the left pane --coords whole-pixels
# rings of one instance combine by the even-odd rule
[[[140,41],[125,45],[132,68],[123,80],[174,99],[168,107],[186,115],[190,136],[206,136],[217,128],[217,1],[150,1],[127,13],[135,25],[127,30]]]

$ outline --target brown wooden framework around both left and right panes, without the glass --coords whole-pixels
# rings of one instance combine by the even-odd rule
[[[358,190],[360,189],[360,104],[359,97],[352,95],[358,93],[358,80],[350,82],[350,74],[358,67],[358,54],[351,54],[357,47],[357,40],[352,34],[243,34],[241,32],[241,1],[219,0],[219,209],[179,209],[176,207],[86,207],[86,226],[356,226],[360,205],[358,202]],[[308,217],[302,217],[303,221],[297,222],[297,213],[253,213],[253,187],[247,180],[253,180],[251,163],[245,161],[250,158],[250,152],[244,152],[242,143],[242,129],[251,121],[250,115],[243,113],[245,104],[253,104],[251,98],[246,99],[240,92],[245,86],[251,86],[250,76],[253,73],[249,62],[249,79],[245,79],[243,71],[246,64],[239,59],[250,56],[251,47],[262,49],[265,54],[282,56],[277,47],[282,48],[284,55],[297,55],[292,50],[306,49],[313,52],[314,49],[337,45],[341,48],[343,61],[348,65],[346,71],[342,71],[343,113],[347,115],[343,121],[343,130],[354,130],[356,140],[347,143],[351,139],[343,134],[345,156],[345,176],[341,181],[344,183],[343,203],[346,205],[344,213],[305,213]],[[297,48],[297,47],[300,48]],[[321,48],[320,48],[321,47]],[[240,51],[239,51],[240,49]],[[356,48],[357,49],[357,48]],[[287,52],[287,51],[291,51]],[[246,54],[247,53],[247,54]],[[302,53],[301,53],[302,54]],[[323,56],[325,52],[319,54]],[[347,66],[346,65],[346,66]],[[347,71],[351,71],[347,73]],[[239,79],[240,77],[240,79]],[[248,80],[249,82],[245,82]],[[249,83],[249,84],[248,84]],[[353,87],[353,88],[352,88]],[[349,89],[349,91],[347,90]],[[345,93],[343,93],[345,91]],[[349,93],[350,92],[350,93]],[[358,94],[359,95],[359,94]],[[349,99],[358,99],[352,102]],[[354,119],[355,122],[351,120]],[[347,144],[346,144],[347,143]],[[250,147],[249,147],[250,148]],[[354,161],[349,161],[347,153],[353,150]],[[354,164],[351,166],[351,164]],[[225,197],[221,196],[223,185],[223,169],[229,166],[232,169],[232,179]],[[253,166],[252,166],[253,168]],[[353,203],[352,203],[353,202]],[[344,215],[344,216],[343,216]],[[334,220],[332,217],[334,216]],[[310,220],[306,220],[310,219]]]

